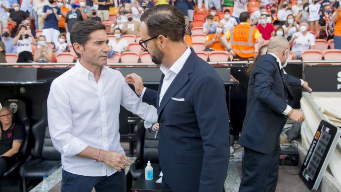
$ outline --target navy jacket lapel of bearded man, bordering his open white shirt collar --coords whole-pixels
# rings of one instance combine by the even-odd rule
[[[158,107],[158,115],[160,115],[161,111],[164,109],[165,105],[168,103],[168,101],[171,99],[171,97],[174,96],[188,81],[188,74],[192,73],[194,63],[196,62],[197,57],[198,57],[192,48],[191,48],[191,51],[192,52],[189,55],[189,57],[187,58],[182,69],[176,75],[175,79],[171,82],[170,87],[167,89],[164,97],[162,98],[160,106]],[[162,78],[162,80],[163,80],[163,78]],[[161,91],[161,86],[159,86],[158,103],[159,103],[159,99],[160,99],[160,91]]]

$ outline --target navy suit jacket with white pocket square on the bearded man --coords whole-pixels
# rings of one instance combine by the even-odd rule
[[[143,102],[158,111],[160,167],[173,192],[222,192],[230,157],[226,92],[221,78],[193,49],[159,106],[159,91]],[[184,98],[177,101],[173,98]]]

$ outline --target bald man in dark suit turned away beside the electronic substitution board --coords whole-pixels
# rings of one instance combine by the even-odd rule
[[[273,37],[267,54],[260,56],[250,74],[248,103],[243,133],[244,146],[240,192],[274,192],[278,180],[281,148],[279,136],[290,117],[294,122],[304,115],[293,109],[290,86],[310,90],[308,83],[284,72],[290,46],[283,37]]]

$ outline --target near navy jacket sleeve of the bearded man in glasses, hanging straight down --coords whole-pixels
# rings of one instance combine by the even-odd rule
[[[222,192],[230,158],[225,88],[221,81],[208,77],[195,93],[193,106],[204,149],[199,192]]]

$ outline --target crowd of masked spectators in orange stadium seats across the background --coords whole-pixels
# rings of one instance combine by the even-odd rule
[[[108,59],[123,52],[139,57],[143,53],[138,45],[141,14],[168,3],[184,14],[188,29],[184,41],[196,52],[254,57],[274,36],[289,41],[293,59],[301,59],[304,50],[319,49],[316,42],[341,49],[338,0],[0,0],[0,61],[63,62],[58,55],[73,56],[76,61],[70,31],[85,19],[106,26],[112,50]],[[239,26],[251,26],[252,40],[249,33],[238,36],[253,42],[255,48],[231,44],[236,38],[233,32],[242,31]]]

